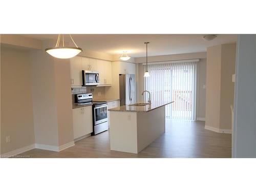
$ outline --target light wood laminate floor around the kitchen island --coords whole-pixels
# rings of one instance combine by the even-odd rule
[[[166,120],[166,132],[139,154],[110,150],[109,132],[75,142],[61,152],[34,149],[31,158],[231,158],[231,134],[204,129],[204,121]]]

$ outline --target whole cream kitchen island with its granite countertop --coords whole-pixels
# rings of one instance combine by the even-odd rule
[[[165,132],[165,105],[152,101],[110,109],[110,147],[113,151],[139,153]]]

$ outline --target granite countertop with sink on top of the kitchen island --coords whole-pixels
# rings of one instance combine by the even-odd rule
[[[129,106],[123,105],[118,106],[117,108],[109,109],[109,111],[122,111],[122,112],[139,112],[139,113],[146,113],[161,106],[173,103],[174,101],[152,101],[151,105],[147,104],[145,106]]]

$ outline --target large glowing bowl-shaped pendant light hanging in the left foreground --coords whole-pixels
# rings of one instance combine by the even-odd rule
[[[60,41],[60,34],[59,34],[56,42],[56,46],[52,48],[47,48],[46,52],[52,55],[53,57],[60,58],[60,59],[69,59],[71,57],[78,55],[78,53],[82,52],[82,49],[77,47],[71,35],[70,35],[70,38],[72,39],[76,47],[65,47],[64,35],[62,35],[62,47],[59,46],[59,41]]]

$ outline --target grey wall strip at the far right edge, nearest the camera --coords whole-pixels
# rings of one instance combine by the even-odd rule
[[[256,35],[238,35],[232,157],[256,157]]]

